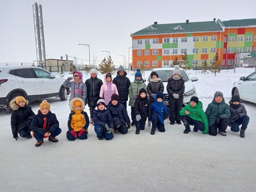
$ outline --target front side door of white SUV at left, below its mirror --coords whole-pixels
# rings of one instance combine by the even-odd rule
[[[40,84],[41,98],[56,96],[59,93],[58,80],[50,78],[50,73],[46,70],[33,68]]]

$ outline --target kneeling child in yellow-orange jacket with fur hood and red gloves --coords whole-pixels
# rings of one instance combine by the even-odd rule
[[[73,111],[69,114],[68,118],[68,131],[66,137],[70,141],[76,138],[87,139],[89,117],[84,112],[85,104],[81,98],[74,98],[70,101],[70,110]]]

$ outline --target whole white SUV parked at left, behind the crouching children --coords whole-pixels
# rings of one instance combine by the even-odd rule
[[[28,101],[53,96],[66,101],[70,90],[63,86],[64,80],[35,66],[0,66],[0,107],[11,112],[10,101],[17,96]]]

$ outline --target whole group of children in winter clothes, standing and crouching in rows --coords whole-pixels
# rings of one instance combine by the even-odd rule
[[[204,134],[226,136],[228,125],[231,131],[239,132],[240,137],[245,137],[245,130],[249,123],[246,109],[240,103],[239,96],[232,96],[228,105],[225,103],[222,92],[217,91],[214,99],[203,111],[202,102],[193,96],[182,109],[185,81],[180,75],[180,68],[175,66],[173,76],[168,79],[167,92],[169,94],[169,110],[164,104],[164,85],[158,74],[154,71],[151,80],[146,86],[142,80],[142,73],[137,69],[133,82],[126,77],[123,66],[117,70],[117,76],[112,81],[111,73],[104,75],[105,84],[97,78],[97,70],[90,70],[91,77],[82,82],[82,73],[75,71],[73,78],[65,80],[63,85],[71,88],[70,110],[68,118],[68,131],[66,137],[74,141],[76,138],[87,139],[89,123],[93,124],[99,140],[111,140],[114,133],[126,134],[131,126],[136,127],[135,134],[145,129],[146,119],[148,127],[152,128],[150,134],[154,135],[156,128],[165,132],[164,120],[169,116],[170,124],[184,123],[184,134],[189,133],[190,125],[193,131],[202,131]],[[115,84],[114,84],[114,83]],[[118,95],[120,93],[120,95]],[[127,101],[131,106],[131,120],[127,113]],[[90,120],[85,105],[90,107]],[[59,122],[54,113],[50,111],[50,104],[43,100],[37,115],[34,114],[28,101],[18,96],[10,102],[12,108],[11,129],[13,137],[36,138],[35,146],[40,146],[44,138],[51,142],[58,142],[57,135],[61,133]]]

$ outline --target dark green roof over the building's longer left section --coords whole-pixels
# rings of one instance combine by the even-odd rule
[[[180,26],[182,29],[177,30]],[[203,22],[185,22],[185,23],[169,23],[150,25],[142,30],[139,30],[130,36],[146,35],[146,34],[168,34],[168,33],[191,33],[203,31],[223,31],[218,21],[203,21]]]

